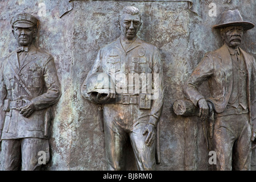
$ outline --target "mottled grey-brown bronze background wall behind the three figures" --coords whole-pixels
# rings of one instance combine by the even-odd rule
[[[162,163],[156,169],[210,170],[212,166],[208,164],[200,119],[177,116],[171,108],[176,100],[184,99],[181,85],[204,53],[222,46],[217,30],[212,30],[220,15],[226,10],[238,9],[244,20],[255,24],[256,2],[200,1],[194,4],[197,13],[188,9],[187,1],[67,1],[68,7],[63,2],[0,1],[1,57],[16,47],[10,31],[11,16],[19,11],[38,16],[39,3],[46,5],[46,16],[38,16],[41,24],[37,43],[53,55],[63,93],[53,107],[52,159],[46,169],[105,169],[104,134],[98,125],[97,106],[81,97],[80,85],[92,67],[98,49],[120,35],[117,27],[119,10],[123,6],[134,5],[141,10],[143,17],[139,38],[158,47],[163,58],[166,90],[160,118]],[[72,3],[73,7],[69,7]],[[216,3],[216,17],[208,14],[211,9],[209,3]],[[241,44],[241,48],[254,57],[255,33],[254,28],[244,34]],[[255,165],[255,159],[252,165]]]

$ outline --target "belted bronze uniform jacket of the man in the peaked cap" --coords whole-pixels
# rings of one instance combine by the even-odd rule
[[[19,84],[9,61],[32,96]],[[16,109],[6,111],[5,117],[2,115],[0,121],[1,139],[48,138],[45,135],[48,126],[45,125],[49,125],[46,123],[48,117],[51,117],[49,109],[59,100],[61,94],[53,57],[31,46],[27,57],[19,65],[17,52],[13,51],[3,60],[0,79],[1,110],[4,100],[26,98],[35,105],[34,113],[28,118],[23,117]]]

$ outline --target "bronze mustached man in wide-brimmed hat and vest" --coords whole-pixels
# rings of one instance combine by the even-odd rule
[[[251,141],[256,132],[255,126],[253,133],[251,128],[256,118],[256,64],[239,46],[243,32],[253,27],[238,10],[226,11],[220,24],[213,26],[220,28],[224,45],[205,54],[184,84],[186,96],[200,107],[200,117],[207,118],[208,104],[213,106],[212,147],[217,152],[217,170],[250,169]],[[208,81],[210,97],[197,90],[203,81]]]

